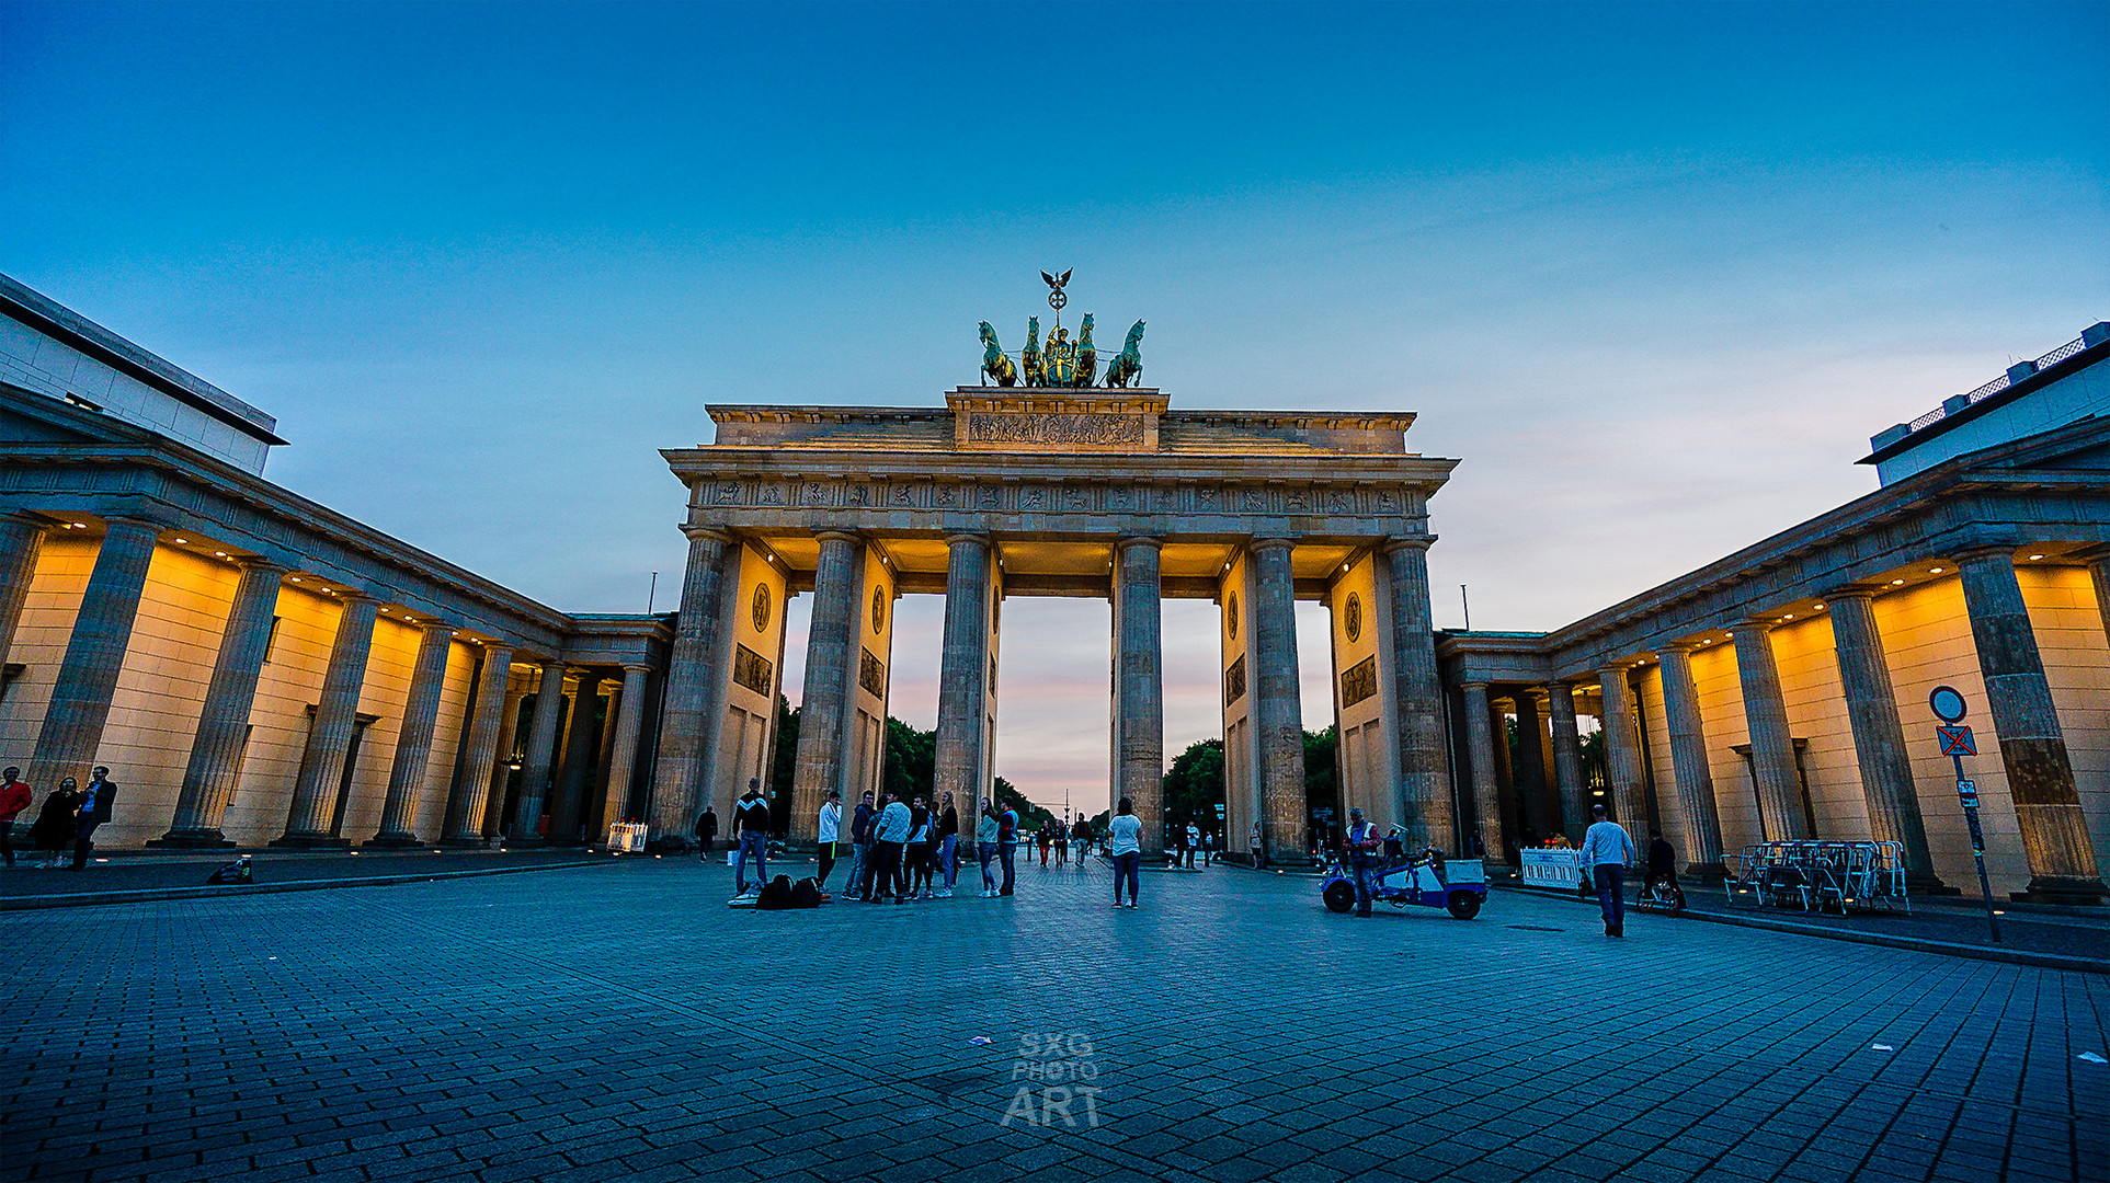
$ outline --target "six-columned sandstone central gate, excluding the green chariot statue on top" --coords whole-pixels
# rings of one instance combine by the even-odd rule
[[[747,778],[768,778],[785,603],[806,590],[791,835],[812,839],[829,789],[855,801],[880,782],[893,605],[916,593],[945,597],[935,789],[971,814],[992,784],[1002,603],[1061,595],[1114,605],[1112,787],[1154,848],[1158,601],[1190,597],[1220,605],[1228,846],[1258,820],[1270,858],[1304,858],[1293,601],[1317,599],[1342,801],[1454,850],[1426,550],[1428,496],[1456,462],[1407,451],[1414,415],[1173,411],[1154,388],[1049,386],[962,386],[945,409],[709,413],[715,443],[663,453],[690,491],[690,546],[654,835],[688,833],[705,801],[730,816]]]

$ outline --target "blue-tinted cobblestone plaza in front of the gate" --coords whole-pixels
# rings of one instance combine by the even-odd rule
[[[1498,892],[692,860],[0,915],[4,1179],[2104,1179],[2099,974]],[[321,936],[321,938],[319,938]],[[977,1040],[987,1040],[979,1044]]]

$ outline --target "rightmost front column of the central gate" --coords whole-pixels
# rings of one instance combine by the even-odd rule
[[[1399,816],[1409,848],[1458,850],[1443,730],[1443,677],[1428,616],[1428,546],[1435,538],[1397,538],[1384,548],[1393,588],[1393,719],[1399,725]]]

